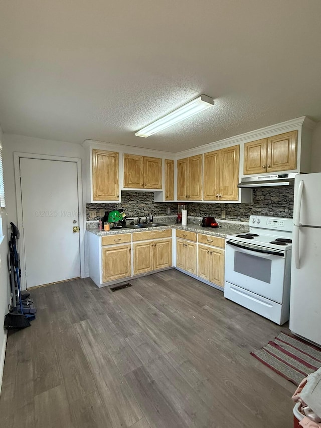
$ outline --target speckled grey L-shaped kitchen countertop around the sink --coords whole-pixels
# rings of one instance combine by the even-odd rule
[[[218,236],[222,238],[226,238],[226,235],[249,231],[249,224],[246,222],[231,222],[231,221],[218,220],[220,227],[213,229],[213,228],[204,228],[197,223],[191,223],[191,222],[188,223],[187,226],[182,226],[179,223],[166,221],[165,219],[163,220],[162,217],[158,217],[156,221],[159,223],[164,222],[167,224],[167,226],[156,226],[154,228],[139,228],[139,229],[115,228],[115,229],[111,229],[110,231],[103,231],[98,229],[97,227],[98,222],[87,222],[87,231],[95,235],[106,236],[106,235],[124,234],[124,233],[131,233],[131,232],[139,233],[139,232],[146,232],[150,230],[154,231],[156,229],[164,230],[164,229],[175,228],[175,229],[182,229],[190,232],[206,233],[207,235],[213,235],[213,236]]]

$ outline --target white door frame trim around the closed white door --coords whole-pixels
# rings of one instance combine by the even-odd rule
[[[77,186],[78,186],[78,209],[79,209],[79,250],[80,250],[80,275],[81,278],[85,277],[85,230],[86,230],[86,209],[83,205],[82,195],[82,173],[81,173],[81,159],[77,157],[64,157],[64,156],[52,156],[46,154],[35,154],[35,153],[23,153],[14,152],[14,172],[15,172],[15,184],[16,184],[16,204],[17,204],[17,222],[18,229],[20,232],[20,267],[21,267],[21,289],[27,289],[26,282],[26,259],[25,259],[25,239],[24,229],[22,221],[22,194],[21,194],[21,182],[20,182],[20,158],[27,159],[40,159],[40,160],[56,160],[62,162],[73,162],[77,165]]]

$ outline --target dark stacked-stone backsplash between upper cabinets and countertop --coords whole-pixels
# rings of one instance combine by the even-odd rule
[[[154,216],[165,216],[170,207],[171,214],[176,214],[177,203],[154,202],[153,192],[122,191],[121,203],[87,203],[87,220],[98,220],[99,210],[111,211],[123,208],[128,217],[137,217],[151,212]],[[227,220],[248,222],[251,214],[274,217],[293,217],[293,187],[263,187],[253,191],[253,203],[186,203],[189,216],[214,216],[222,218],[225,211]],[[96,216],[89,218],[89,211],[96,211]]]

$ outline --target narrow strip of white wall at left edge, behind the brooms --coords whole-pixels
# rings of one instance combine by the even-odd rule
[[[2,131],[0,128],[0,144],[3,140]],[[5,191],[6,195],[6,191]],[[3,236],[0,238],[0,390],[2,383],[2,373],[5,362],[5,351],[7,332],[3,329],[4,316],[8,312],[9,303],[9,276],[8,276],[8,223],[5,211],[2,211],[0,221],[2,222]]]

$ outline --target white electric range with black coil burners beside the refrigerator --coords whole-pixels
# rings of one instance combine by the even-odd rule
[[[277,324],[289,319],[293,219],[250,216],[226,237],[224,296]]]

